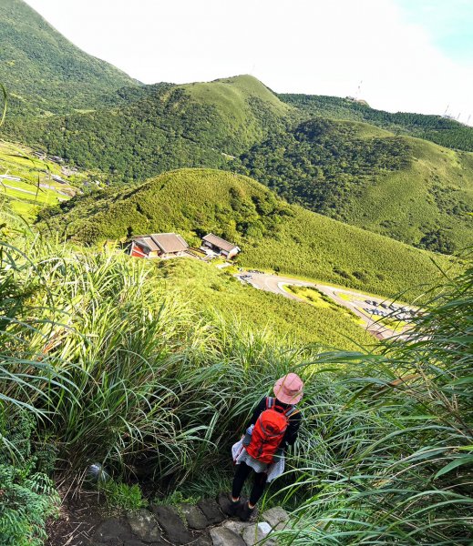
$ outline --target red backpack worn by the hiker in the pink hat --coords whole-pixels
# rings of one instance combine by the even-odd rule
[[[246,450],[253,459],[271,464],[279,448],[284,432],[289,425],[289,417],[296,411],[295,406],[285,410],[276,400],[266,399],[266,410],[262,411],[252,430],[252,440]]]

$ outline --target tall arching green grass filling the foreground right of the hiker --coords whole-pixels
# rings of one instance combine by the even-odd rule
[[[473,540],[473,268],[427,308],[407,343],[331,373],[330,390],[314,386],[305,411],[316,432],[306,429],[296,487],[284,490],[303,499],[300,530],[283,531],[283,544]]]

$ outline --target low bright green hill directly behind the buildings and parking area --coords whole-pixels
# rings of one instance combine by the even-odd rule
[[[178,231],[198,244],[198,236],[211,231],[242,248],[242,265],[386,295],[436,278],[432,258],[441,268],[453,263],[290,206],[251,178],[208,169],[182,169],[139,187],[76,197],[42,219],[46,231],[82,243]]]

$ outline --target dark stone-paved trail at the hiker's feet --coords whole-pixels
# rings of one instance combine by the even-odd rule
[[[229,518],[230,501],[224,493],[196,505],[157,503],[105,519],[91,513],[87,504],[67,511],[67,499],[63,503],[63,517],[48,530],[48,546],[254,546],[268,535],[267,543],[274,544],[271,533],[284,529],[289,520],[281,507],[261,514],[256,510],[251,521]]]

